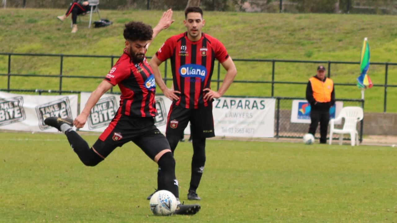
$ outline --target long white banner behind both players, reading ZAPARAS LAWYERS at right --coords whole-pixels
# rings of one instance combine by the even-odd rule
[[[80,112],[91,93],[81,93]],[[167,117],[172,101],[166,96],[156,96],[158,115],[155,125],[166,133]],[[213,106],[215,134],[235,137],[273,137],[275,99],[234,98],[216,99]],[[103,132],[119,107],[119,95],[104,94],[91,110],[87,123],[80,130]],[[184,131],[190,134],[189,125]]]

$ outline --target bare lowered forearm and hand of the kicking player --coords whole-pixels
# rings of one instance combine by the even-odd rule
[[[85,125],[87,121],[87,117],[90,114],[91,109],[95,106],[96,102],[98,102],[99,98],[113,85],[107,81],[102,81],[98,87],[91,93],[90,97],[87,100],[87,103],[84,106],[83,111],[73,121],[73,125],[79,129]]]

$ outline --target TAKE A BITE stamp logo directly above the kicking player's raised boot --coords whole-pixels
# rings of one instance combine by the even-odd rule
[[[65,97],[54,102],[36,106],[36,114],[39,118],[39,128],[41,130],[49,129],[51,127],[44,124],[44,119],[48,117],[72,117],[69,98]]]

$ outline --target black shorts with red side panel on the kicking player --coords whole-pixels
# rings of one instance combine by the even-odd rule
[[[117,114],[93,145],[106,158],[116,147],[132,141],[154,160],[162,150],[170,149],[166,137],[154,125],[153,117],[130,117]]]

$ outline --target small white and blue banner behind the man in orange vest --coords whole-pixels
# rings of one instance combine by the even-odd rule
[[[335,102],[330,108],[330,119],[334,119],[339,115],[339,112],[343,108],[343,102]],[[310,110],[311,106],[306,100],[293,100],[291,110],[291,122],[292,123],[308,123],[310,124]],[[335,123],[341,124],[342,121]]]

